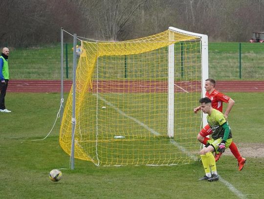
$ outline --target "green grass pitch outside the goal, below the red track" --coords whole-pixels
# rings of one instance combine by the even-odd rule
[[[233,140],[242,147],[263,146],[263,93],[228,95],[236,101],[229,115]],[[223,155],[217,163],[218,182],[198,181],[204,175],[200,162],[96,167],[76,159],[75,170],[70,170],[69,156],[58,142],[59,121],[44,141],[31,141],[49,133],[59,104],[59,93],[7,93],[6,106],[12,113],[0,114],[0,198],[211,199],[212,194],[213,198],[264,198],[264,157],[247,153],[242,154],[247,163],[241,172],[233,156]],[[48,178],[55,168],[66,168],[59,182]]]

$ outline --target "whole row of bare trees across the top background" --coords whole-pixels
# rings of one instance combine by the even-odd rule
[[[128,40],[175,26],[212,41],[264,31],[264,0],[1,0],[0,45],[58,42],[60,27],[96,40]]]

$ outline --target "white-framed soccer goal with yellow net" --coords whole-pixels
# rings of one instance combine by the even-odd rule
[[[197,160],[208,78],[207,36],[174,27],[124,42],[81,42],[74,157],[96,165],[175,165]],[[60,129],[70,155],[72,93]]]

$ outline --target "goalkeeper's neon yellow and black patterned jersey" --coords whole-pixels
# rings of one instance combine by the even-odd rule
[[[223,138],[224,136],[224,128],[222,127],[222,125],[224,125],[225,123],[228,122],[226,121],[223,113],[221,113],[220,111],[213,109],[213,111],[211,112],[211,115],[207,115],[207,122],[210,126],[210,128],[212,129],[212,138],[213,139],[218,139],[218,138]],[[228,139],[232,138],[232,133],[231,133],[231,128],[229,127],[229,135],[228,135]]]

